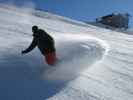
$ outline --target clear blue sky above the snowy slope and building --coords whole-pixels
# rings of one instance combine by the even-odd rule
[[[110,13],[128,12],[133,16],[133,0],[0,0],[0,3],[19,6],[29,2],[34,3],[38,9],[84,22],[94,21]],[[130,25],[133,26],[130,19]]]

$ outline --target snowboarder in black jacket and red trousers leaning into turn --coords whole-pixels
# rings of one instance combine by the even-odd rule
[[[38,29],[38,26],[33,26],[32,32],[32,43],[26,50],[22,51],[22,54],[32,51],[37,46],[44,55],[47,64],[54,65],[57,60],[54,39],[46,31]]]

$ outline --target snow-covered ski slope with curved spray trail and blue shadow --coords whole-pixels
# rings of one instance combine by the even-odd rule
[[[3,5],[0,22],[0,99],[132,100],[132,35]],[[54,67],[37,48],[21,55],[34,24],[55,38]]]

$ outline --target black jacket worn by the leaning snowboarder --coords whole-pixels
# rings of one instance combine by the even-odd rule
[[[25,53],[32,51],[38,47],[43,55],[55,52],[54,40],[44,30],[38,29],[33,33],[33,40],[30,46],[25,50]]]

